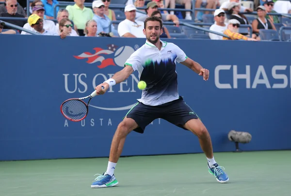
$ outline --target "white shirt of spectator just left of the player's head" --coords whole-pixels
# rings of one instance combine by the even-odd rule
[[[146,35],[143,32],[144,22],[135,20],[132,22],[128,19],[121,21],[118,25],[118,34],[122,37],[125,33],[131,33],[135,37],[146,38]]]

